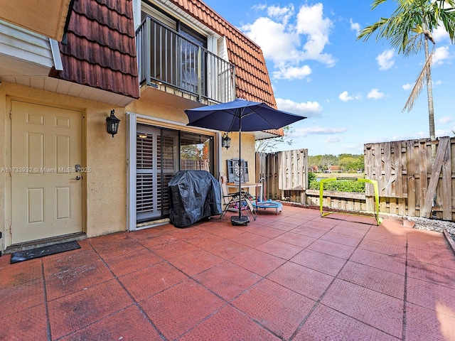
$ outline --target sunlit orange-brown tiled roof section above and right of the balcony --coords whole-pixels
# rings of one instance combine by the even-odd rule
[[[226,37],[230,63],[236,67],[236,95],[264,102],[276,108],[277,102],[261,48],[200,0],[171,0],[213,31]]]

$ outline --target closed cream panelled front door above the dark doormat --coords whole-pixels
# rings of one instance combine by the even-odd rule
[[[11,244],[82,232],[80,164],[81,112],[11,101]]]

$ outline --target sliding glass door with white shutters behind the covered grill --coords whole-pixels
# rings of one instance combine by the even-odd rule
[[[180,170],[213,174],[213,136],[137,124],[136,220],[168,216],[168,182]]]

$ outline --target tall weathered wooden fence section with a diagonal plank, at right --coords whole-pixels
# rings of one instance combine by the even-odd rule
[[[434,144],[433,164],[429,139],[365,144],[365,177],[378,181],[380,212],[454,220],[455,139]]]

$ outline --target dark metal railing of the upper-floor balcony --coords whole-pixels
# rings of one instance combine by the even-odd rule
[[[198,101],[235,99],[235,66],[147,16],[136,31],[141,85],[168,85]]]

